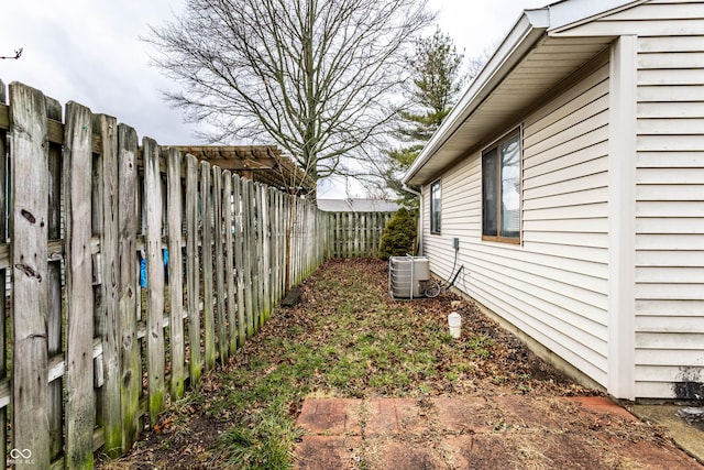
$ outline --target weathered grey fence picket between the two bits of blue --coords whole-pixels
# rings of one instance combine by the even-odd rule
[[[142,140],[144,200],[146,208],[146,353],[150,423],[156,424],[164,407],[164,258],[162,253],[162,178],[160,147]]]

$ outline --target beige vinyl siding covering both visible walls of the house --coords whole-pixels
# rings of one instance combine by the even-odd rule
[[[522,124],[521,244],[482,241],[482,149],[469,149],[441,175],[442,233],[426,227],[426,254],[432,271],[449,277],[458,237],[458,286],[604,386],[613,365],[609,321],[627,318],[623,331],[613,330],[626,345],[618,364],[634,384],[624,390],[629,397],[675,396],[678,382],[704,380],[704,1],[652,0],[550,34],[627,35],[626,44],[637,44],[628,223],[618,211],[609,220],[617,207],[609,181],[618,179],[608,172],[622,147],[608,155],[608,103],[623,105],[627,95],[614,78],[609,96],[604,55],[576,85],[505,123],[503,131]],[[496,131],[485,145],[501,138]],[[615,228],[627,228],[626,238],[609,234]],[[635,266],[618,263],[614,253],[624,249]],[[609,270],[609,262],[618,264]],[[626,294],[614,272],[625,273]],[[609,304],[618,296],[623,302]]]

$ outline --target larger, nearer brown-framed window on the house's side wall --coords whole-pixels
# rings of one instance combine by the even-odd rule
[[[520,132],[482,152],[482,238],[520,243]]]

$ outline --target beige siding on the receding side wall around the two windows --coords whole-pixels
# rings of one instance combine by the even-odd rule
[[[451,275],[458,237],[464,266],[458,287],[604,385],[607,61],[604,54],[582,80],[522,120],[520,245],[482,241],[483,147],[442,175],[442,233],[425,234],[436,274]]]

